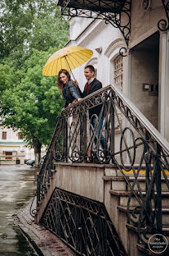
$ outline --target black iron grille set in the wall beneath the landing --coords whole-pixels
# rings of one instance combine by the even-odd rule
[[[56,188],[41,223],[76,255],[127,256],[102,203]]]

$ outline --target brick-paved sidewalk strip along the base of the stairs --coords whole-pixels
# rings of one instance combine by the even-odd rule
[[[56,235],[53,235],[44,226],[34,223],[34,219],[29,213],[30,204],[21,208],[20,212],[14,215],[14,219],[37,254],[39,256],[75,256]]]

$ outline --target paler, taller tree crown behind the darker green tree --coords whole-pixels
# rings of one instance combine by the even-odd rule
[[[0,57],[11,56],[19,63],[32,48],[46,51],[68,39],[68,22],[56,0],[2,0],[0,28]]]

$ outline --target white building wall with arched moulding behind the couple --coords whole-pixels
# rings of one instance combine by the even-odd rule
[[[73,75],[78,80],[81,89],[86,84],[83,75],[84,67],[91,64],[97,69],[97,79],[103,86],[113,82],[112,60],[119,54],[119,48],[125,45],[121,32],[113,25],[105,24],[105,21],[91,20],[85,18],[70,19],[70,40],[69,45],[78,45],[90,48],[93,51],[91,59],[73,70]],[[118,41],[117,41],[118,39]],[[102,48],[101,53],[97,53],[96,48]]]

